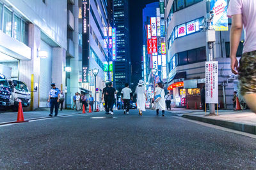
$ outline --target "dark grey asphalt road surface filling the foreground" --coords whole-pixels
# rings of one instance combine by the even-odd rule
[[[0,169],[256,169],[256,139],[154,111],[56,117],[0,126]]]

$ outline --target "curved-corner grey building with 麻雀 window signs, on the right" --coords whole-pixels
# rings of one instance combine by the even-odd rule
[[[228,3],[228,2],[227,2]],[[205,0],[168,0],[165,4],[166,42],[168,62],[168,90],[176,107],[195,108],[200,104],[200,90],[205,85],[205,61],[209,56],[204,31],[207,13]],[[195,24],[195,27],[189,25]],[[231,22],[228,20],[228,30]],[[186,30],[180,31],[186,27]],[[218,104],[232,108],[233,92],[237,91],[237,77],[230,70],[230,31],[215,31],[213,60],[218,61]],[[237,52],[241,57],[243,38]]]

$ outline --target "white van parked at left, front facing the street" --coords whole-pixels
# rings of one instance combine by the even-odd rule
[[[11,106],[17,108],[19,102],[21,102],[24,107],[29,106],[31,93],[29,92],[27,85],[19,80],[8,80],[8,83],[12,90]]]

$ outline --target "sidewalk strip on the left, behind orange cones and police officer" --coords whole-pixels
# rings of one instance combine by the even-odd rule
[[[45,108],[45,109],[41,109],[40,111],[24,111],[23,115],[25,120],[35,120],[40,118],[49,118],[49,113],[50,113],[50,109]],[[86,111],[86,113],[88,113],[88,110]],[[76,114],[82,114],[82,110],[81,111],[76,111],[76,110],[62,110],[62,111],[59,110],[58,111],[58,117],[65,116],[65,115],[76,115]],[[17,120],[17,115],[18,115],[17,111],[0,113],[0,125],[14,123]]]

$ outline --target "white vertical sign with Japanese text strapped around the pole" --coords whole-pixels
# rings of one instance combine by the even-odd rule
[[[218,61],[205,62],[205,103],[218,103]]]

